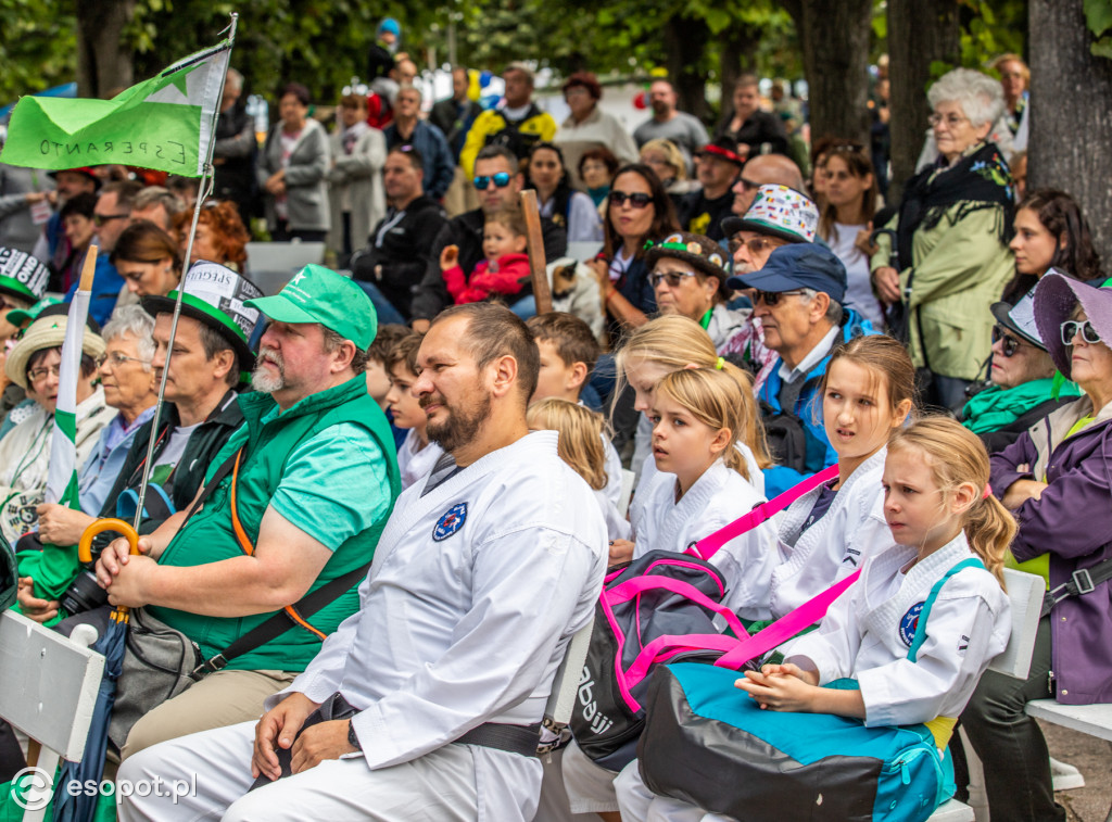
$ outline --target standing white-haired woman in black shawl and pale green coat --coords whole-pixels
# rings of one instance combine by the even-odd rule
[[[989,139],[1004,106],[997,81],[954,69],[927,98],[939,156],[904,187],[887,225],[895,236],[878,238],[871,270],[893,330],[929,378],[924,399],[957,409],[989,357],[990,309],[1014,269],[1012,178]]]

